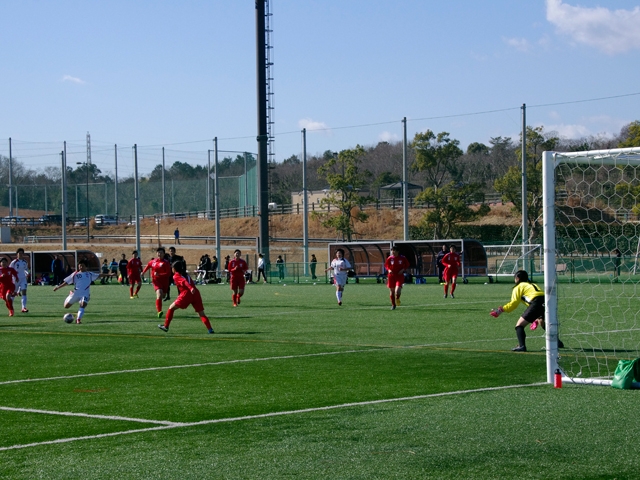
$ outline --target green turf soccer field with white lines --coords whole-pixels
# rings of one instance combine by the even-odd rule
[[[214,335],[160,331],[148,285],[92,287],[81,325],[31,287],[0,320],[0,477],[636,478],[637,392],[544,383],[542,330],[512,353],[523,307],[488,315],[511,287],[201,286]]]

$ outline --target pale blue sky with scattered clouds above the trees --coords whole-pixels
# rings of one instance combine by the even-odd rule
[[[463,148],[529,125],[574,138],[640,119],[640,1],[272,0],[279,161],[418,131]],[[0,153],[119,174],[256,151],[250,0],[5,0]],[[609,98],[615,97],[615,98]],[[604,98],[604,99],[603,99]],[[589,101],[594,99],[603,99]],[[492,112],[492,113],[483,113]],[[221,153],[225,155],[225,153]],[[233,154],[235,155],[235,154]]]

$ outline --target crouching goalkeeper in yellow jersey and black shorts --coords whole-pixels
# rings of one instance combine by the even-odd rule
[[[491,316],[498,318],[503,312],[513,312],[520,302],[527,308],[516,323],[516,336],[518,346],[512,348],[514,352],[526,352],[526,333],[524,327],[530,325],[531,330],[535,330],[540,325],[544,329],[544,291],[535,283],[529,280],[529,274],[525,270],[518,270],[514,276],[516,286],[511,292],[511,301],[502,307],[491,310]],[[564,348],[564,344],[558,339],[558,348]]]

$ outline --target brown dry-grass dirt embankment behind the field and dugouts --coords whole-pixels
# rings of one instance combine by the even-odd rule
[[[518,224],[520,219],[517,214],[514,214],[509,205],[492,205],[491,214],[483,219],[477,221],[479,224]],[[420,222],[424,215],[424,210],[410,210],[409,221],[410,224],[416,225]],[[374,210],[368,211],[369,220],[366,223],[359,223],[356,225],[355,238],[358,240],[396,240],[402,238],[403,234],[403,218],[402,209],[395,210]],[[41,211],[28,211],[20,210],[20,215],[25,218],[38,218],[44,212]],[[0,216],[4,217],[8,215],[8,209],[6,207],[0,207]],[[174,244],[173,233],[175,229],[180,230],[180,236],[183,238],[182,245],[177,246],[178,253],[184,255],[187,263],[197,264],[200,257],[204,253],[209,255],[215,254],[214,246],[211,244],[203,245],[204,242],[198,240],[188,240],[184,237],[190,236],[215,236],[215,222],[203,219],[190,219],[190,220],[162,220],[160,223],[160,235],[161,243],[168,247]],[[13,239],[13,245],[5,245],[4,251],[14,251],[18,246],[24,246],[29,250],[54,250],[60,248],[59,244],[55,243],[29,243],[24,244],[24,238],[27,236],[60,236],[60,227],[11,227],[11,236]],[[85,227],[68,227],[67,235],[84,236],[86,233]],[[153,236],[157,238],[158,225],[153,219],[145,219],[140,223],[141,235]],[[274,239],[277,238],[302,238],[302,215],[274,215],[270,217],[269,225],[270,236]],[[125,240],[125,237],[132,237],[135,235],[135,226],[133,225],[117,225],[108,227],[95,227],[90,225],[90,234],[92,235],[113,235],[115,236],[113,241],[92,241],[90,246],[87,247],[84,239],[76,241],[69,241],[67,247],[69,249],[86,249],[102,254],[103,258],[120,259],[122,253],[130,257],[131,250],[134,245],[134,240]],[[251,218],[225,218],[220,220],[220,235],[223,237],[258,237],[259,225],[258,219]],[[322,238],[331,239],[332,241],[340,240],[340,237],[336,236],[334,230],[325,228],[320,224],[317,219],[309,219],[309,237],[310,238]],[[157,241],[152,241],[149,244],[148,240],[143,241],[145,247],[143,248],[142,258],[147,259],[153,256],[153,251],[157,246]],[[115,245],[114,245],[115,244]],[[223,242],[221,249],[222,256],[231,254],[236,246],[242,246],[246,253],[255,255],[255,244],[252,241],[239,241],[235,243]],[[302,249],[299,242],[295,243],[282,243],[272,242],[271,244],[272,254],[284,254],[287,255],[289,261],[301,261]],[[327,248],[326,244],[311,243],[310,251],[315,253],[319,261],[326,261]]]

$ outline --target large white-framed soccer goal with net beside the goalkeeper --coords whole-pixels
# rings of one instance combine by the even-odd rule
[[[542,172],[547,381],[610,385],[640,357],[640,148],[544,152]]]

